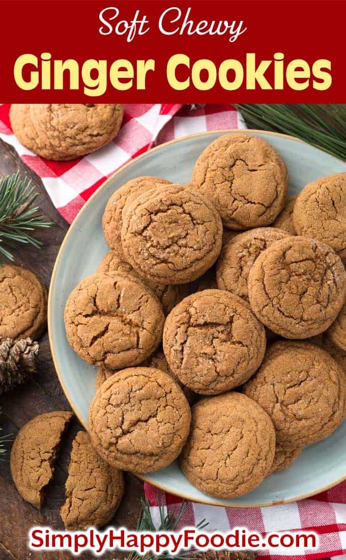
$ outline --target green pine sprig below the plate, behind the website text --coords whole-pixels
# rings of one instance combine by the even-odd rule
[[[186,507],[188,505],[185,500],[181,502],[176,515],[172,514],[171,512],[167,512],[167,514],[165,514],[163,494],[161,494],[161,497],[159,493],[157,493],[156,495],[158,511],[160,514],[160,526],[158,527],[158,529],[155,527],[151,516],[149,502],[148,500],[143,500],[143,498],[141,498],[142,511],[139,514],[139,518],[137,521],[137,531],[174,531],[181,519],[181,516],[183,516],[184,511],[186,510]],[[207,525],[208,522],[203,519],[199,522],[196,528],[204,529]],[[190,556],[190,554],[191,552],[189,552],[188,550],[186,550],[185,552],[181,552],[175,556],[171,556],[171,554],[169,553],[163,553],[160,554],[160,556],[155,556],[155,554],[153,554],[152,552],[148,552],[148,554],[146,554],[145,556],[139,556],[137,552],[132,552],[130,553],[130,556],[127,558],[127,560],[138,560],[139,558],[141,558],[141,560],[198,560],[198,557]]]

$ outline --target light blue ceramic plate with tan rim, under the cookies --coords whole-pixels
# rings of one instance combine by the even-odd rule
[[[69,346],[63,313],[69,293],[82,278],[95,272],[108,251],[101,228],[106,202],[115,189],[140,175],[163,177],[173,183],[188,183],[200,153],[226,132],[194,134],[162,144],[137,157],[97,190],[69,228],[50,284],[49,339],[60,383],[85,427],[89,404],[95,393],[96,368],[78,358]],[[247,132],[266,139],[283,157],[289,170],[290,195],[299,193],[303,186],[321,176],[346,171],[343,161],[292,137],[256,130]],[[327,440],[305,449],[287,470],[273,474],[253,492],[235,500],[217,500],[203,494],[186,480],[177,463],[141,478],[178,496],[213,505],[269,506],[299,500],[346,479],[346,421]]]

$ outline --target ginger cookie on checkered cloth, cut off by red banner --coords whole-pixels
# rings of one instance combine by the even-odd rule
[[[10,121],[18,140],[48,160],[67,161],[95,152],[118,134],[119,104],[12,104]]]

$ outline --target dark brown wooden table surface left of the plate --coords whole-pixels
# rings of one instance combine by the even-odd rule
[[[21,175],[29,175],[32,179],[32,183],[39,193],[37,203],[45,216],[55,223],[55,226],[51,230],[42,230],[36,235],[44,243],[41,249],[38,250],[27,245],[17,250],[14,254],[15,264],[38,274],[48,288],[55,258],[68,229],[68,224],[55,210],[38,176],[22,164],[12,147],[0,141],[0,176],[12,174],[18,169]],[[3,412],[0,422],[3,433],[15,435],[26,422],[37,414],[51,410],[71,409],[54,370],[48,334],[45,333],[39,342],[38,373],[34,379],[0,396],[0,407]],[[0,560],[47,557],[63,560],[73,557],[68,552],[31,552],[27,548],[27,531],[34,525],[49,525],[54,529],[63,529],[59,510],[64,502],[64,482],[67,476],[69,449],[71,449],[73,434],[78,428],[80,426],[75,419],[72,429],[69,430],[63,441],[54,479],[47,488],[46,503],[41,511],[22,500],[12,482],[8,460],[0,461]],[[125,495],[112,520],[112,525],[134,529],[140,511],[139,498],[143,496],[143,483],[132,475],[126,475],[125,484]],[[105,553],[102,558],[123,560],[126,556],[127,554],[116,551]],[[90,553],[85,553],[79,558],[84,560],[95,557]]]

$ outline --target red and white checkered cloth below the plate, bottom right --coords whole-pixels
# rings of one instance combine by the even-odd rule
[[[144,483],[144,493],[151,507],[155,526],[160,525],[158,503],[164,503],[167,511],[176,515],[181,499],[166,492],[158,492],[151,484]],[[300,550],[294,553],[274,554],[269,550],[259,550],[261,560],[312,560],[334,557],[346,559],[346,483],[343,482],[312,498],[270,507],[217,507],[203,503],[188,502],[181,516],[177,530],[196,526],[202,520],[208,521],[205,531],[230,531],[245,526],[249,531],[262,535],[271,531],[315,531],[319,535],[318,550]]]

